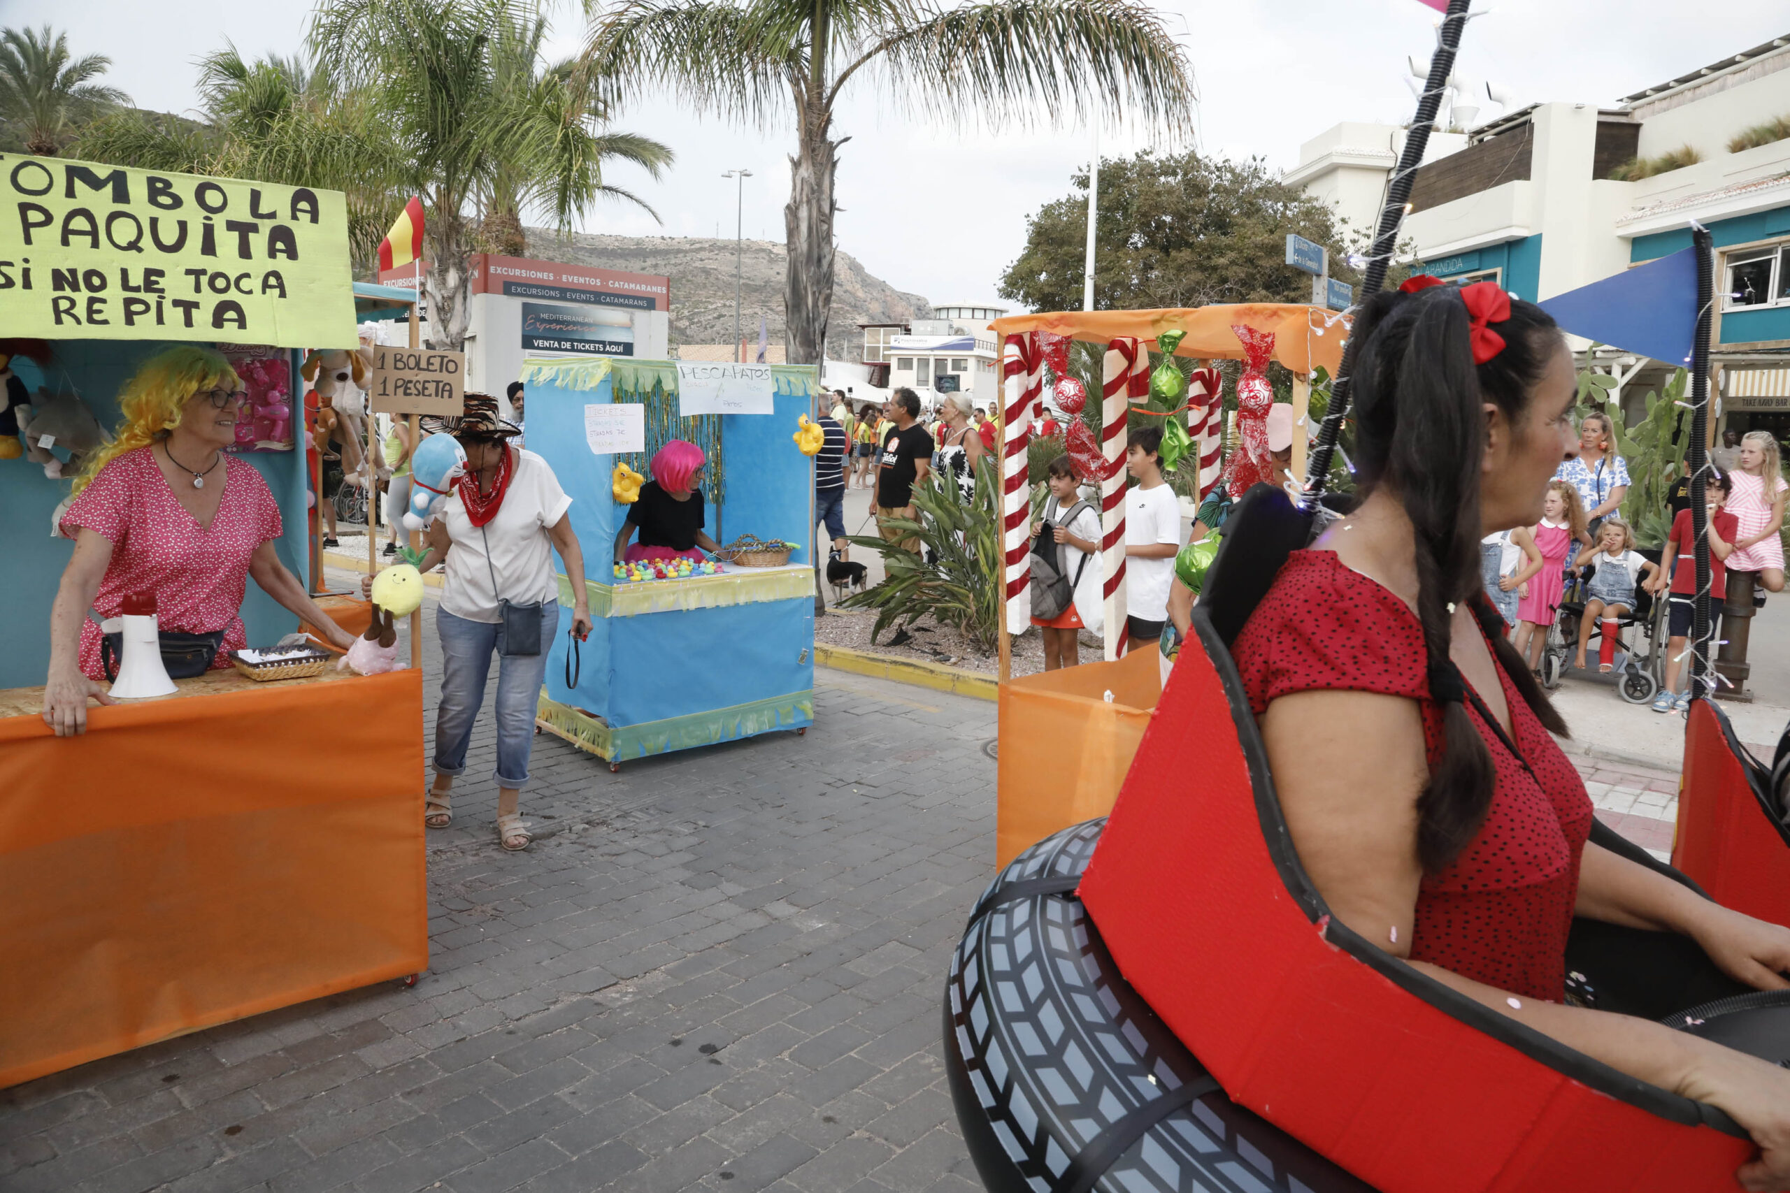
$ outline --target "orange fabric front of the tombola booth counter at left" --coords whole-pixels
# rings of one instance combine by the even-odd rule
[[[422,674],[0,690],[0,1086],[428,966]]]

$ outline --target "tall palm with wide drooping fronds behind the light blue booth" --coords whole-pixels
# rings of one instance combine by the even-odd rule
[[[592,14],[582,66],[605,97],[669,88],[737,120],[788,104],[786,347],[820,361],[832,306],[832,116],[845,86],[877,79],[922,116],[1056,118],[1104,107],[1156,125],[1194,104],[1192,64],[1142,0],[619,0]]]

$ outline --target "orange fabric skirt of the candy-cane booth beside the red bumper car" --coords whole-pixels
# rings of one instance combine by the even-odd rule
[[[1001,685],[997,866],[1060,828],[1112,812],[1162,696],[1156,658],[1140,649]]]

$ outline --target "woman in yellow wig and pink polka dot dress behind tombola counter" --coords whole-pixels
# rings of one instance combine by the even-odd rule
[[[249,576],[347,649],[354,637],[324,613],[274,553],[279,504],[245,460],[226,453],[247,393],[217,352],[183,345],[143,363],[118,399],[118,436],[75,479],[61,529],[75,540],[50,612],[43,719],[57,735],[86,730],[88,698],[113,703],[100,664],[102,619],[152,592],[161,630],[222,633],[211,667],[247,646]]]

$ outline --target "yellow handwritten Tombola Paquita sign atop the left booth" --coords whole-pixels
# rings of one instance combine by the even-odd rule
[[[340,191],[0,154],[0,334],[353,349]]]

